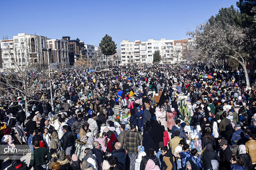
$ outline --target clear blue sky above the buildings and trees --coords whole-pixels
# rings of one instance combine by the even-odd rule
[[[61,39],[70,36],[99,45],[106,34],[119,48],[123,39],[182,39],[186,32],[218,13],[234,0],[91,0],[28,1],[0,3],[0,39],[30,33]]]

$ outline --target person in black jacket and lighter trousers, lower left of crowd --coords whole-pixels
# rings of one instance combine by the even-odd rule
[[[61,138],[61,147],[63,150],[66,151],[66,155],[70,155],[73,143],[74,143],[74,138],[72,135],[72,132],[70,130],[70,127],[68,125],[64,125],[63,127],[63,136]]]

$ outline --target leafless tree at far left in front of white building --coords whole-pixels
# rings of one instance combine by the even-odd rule
[[[46,69],[35,73],[38,61],[33,48],[29,47],[30,43],[26,41],[25,45],[19,49],[11,48],[9,44],[6,45],[11,65],[4,66],[5,73],[1,74],[0,81],[2,94],[22,96],[26,112],[28,112],[30,103],[36,101],[34,96],[41,90],[38,84],[47,82]],[[4,98],[2,101],[9,100]]]

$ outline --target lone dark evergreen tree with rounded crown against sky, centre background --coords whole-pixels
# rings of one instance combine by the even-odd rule
[[[108,56],[116,54],[116,44],[115,41],[112,40],[112,37],[106,34],[105,37],[100,41],[100,49],[102,54],[107,55],[106,66],[108,65]]]

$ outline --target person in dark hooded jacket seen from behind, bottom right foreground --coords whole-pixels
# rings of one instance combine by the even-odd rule
[[[218,156],[217,152],[213,150],[212,144],[207,143],[205,151],[203,152],[202,155],[202,162],[204,169],[210,169],[211,168],[211,161],[212,160],[217,160],[220,162],[220,157]]]

